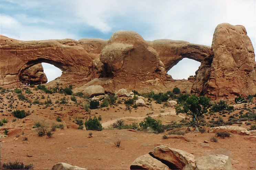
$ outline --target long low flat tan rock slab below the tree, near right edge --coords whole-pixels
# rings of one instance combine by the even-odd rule
[[[211,127],[208,131],[209,133],[216,133],[216,132],[231,132],[231,133],[238,133],[238,134],[250,134],[247,129],[240,126],[217,126],[217,127]],[[241,133],[242,132],[242,133]]]

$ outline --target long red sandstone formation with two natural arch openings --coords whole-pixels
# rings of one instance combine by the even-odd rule
[[[173,80],[167,72],[183,58],[201,65],[189,80]],[[179,87],[181,92],[212,99],[256,93],[254,49],[241,25],[219,24],[212,47],[169,39],[145,41],[132,31],[118,31],[109,40],[78,41],[21,41],[1,35],[1,86],[15,86],[32,79],[27,72],[42,62],[62,70],[60,77],[46,85],[73,85],[74,92],[100,85],[109,93],[121,88],[165,92]]]

